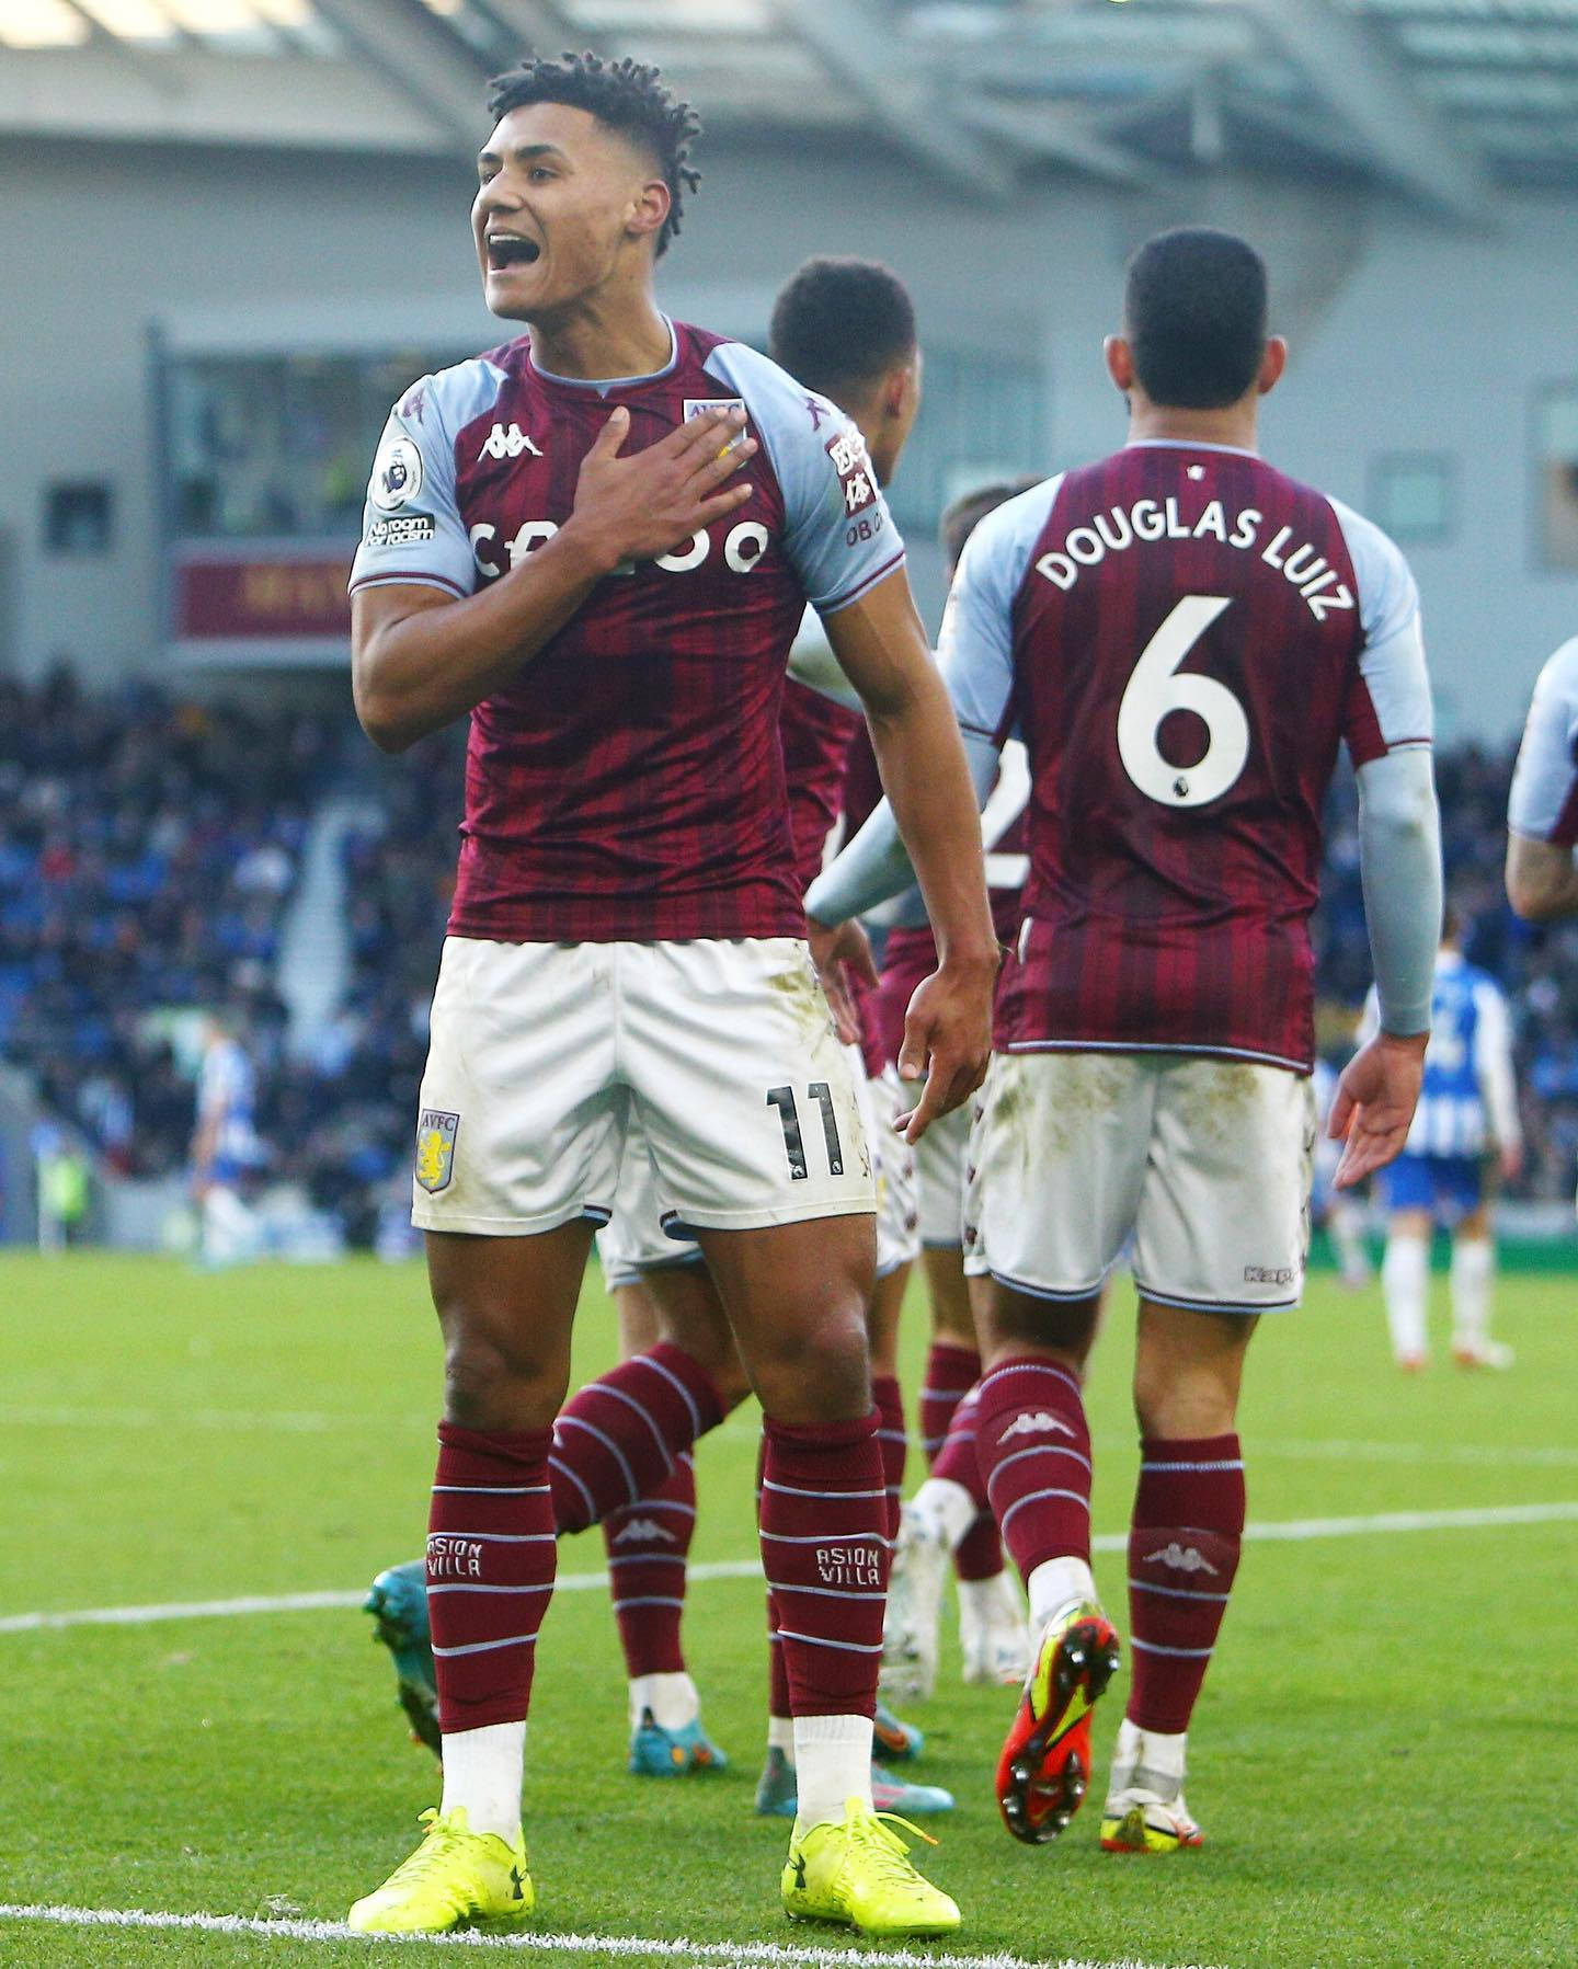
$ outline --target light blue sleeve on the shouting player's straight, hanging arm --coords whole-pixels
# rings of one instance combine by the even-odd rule
[[[847,608],[902,565],[865,439],[841,410],[743,343],[721,343],[707,374],[745,404],[784,496],[784,551],[818,614]]]

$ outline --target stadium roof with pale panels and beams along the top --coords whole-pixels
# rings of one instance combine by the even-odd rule
[[[0,130],[469,154],[485,75],[585,45],[973,199],[1227,163],[1472,222],[1578,185],[1578,0],[0,0]]]

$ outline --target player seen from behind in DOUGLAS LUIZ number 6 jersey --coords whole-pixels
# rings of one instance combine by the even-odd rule
[[[1011,730],[1032,776],[965,1231],[991,1280],[975,1447],[1036,1634],[997,1774],[1026,1841],[1078,1808],[1091,1703],[1117,1666],[1089,1569],[1082,1378],[1131,1235],[1135,1672],[1101,1841],[1202,1839],[1186,1733],[1239,1563],[1243,1359],[1259,1315],[1296,1305],[1302,1284],[1308,918],[1342,740],[1381,1030],[1338,1089],[1340,1185],[1403,1148],[1418,1097],[1440,927],[1418,601],[1383,534],[1257,455],[1284,358],[1249,244],[1208,228],[1149,240],[1107,343],[1129,443],[983,520],[944,624],[977,792]],[[879,809],[810,916],[871,910],[904,862]]]

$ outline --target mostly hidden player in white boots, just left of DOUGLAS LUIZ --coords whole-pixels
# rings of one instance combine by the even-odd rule
[[[981,486],[953,500],[944,512],[940,528],[950,581],[965,541],[981,520],[1005,500],[1028,490],[1030,484],[1034,480],[1024,478]],[[875,764],[869,758],[869,748],[863,748],[861,764],[875,788]],[[1019,935],[1020,890],[1030,870],[1024,855],[1028,795],[1030,774],[1024,746],[1011,738],[1003,746],[997,784],[981,813],[993,925],[1005,945],[1013,945]],[[881,797],[879,788],[871,805],[877,797]],[[898,898],[887,914],[894,918],[894,925],[883,949],[883,979],[875,998],[873,1024],[879,1032],[881,1051],[890,1063],[898,1057],[902,1044],[904,1008],[910,1002],[910,992],[936,963],[936,943],[914,892]],[[887,1071],[892,1073],[892,1065]],[[969,1114],[959,1111],[928,1128],[914,1152],[920,1177],[926,1294],[932,1311],[932,1343],[920,1390],[920,1424],[922,1447],[932,1475],[904,1506],[888,1587],[883,1689],[898,1701],[924,1699],[936,1683],[942,1591],[950,1556],[957,1573],[963,1680],[1013,1687],[1024,1680],[1028,1666],[1024,1607],[1003,1567],[1003,1540],[981,1491],[973,1435],[967,1428],[969,1410],[965,1410],[950,1445],[950,1428],[959,1404],[969,1398],[981,1376],[971,1309],[971,1292],[979,1292],[979,1286],[971,1288],[963,1268],[967,1136]],[[944,1455],[944,1445],[950,1445],[948,1455]],[[942,1459],[940,1469],[938,1459]]]

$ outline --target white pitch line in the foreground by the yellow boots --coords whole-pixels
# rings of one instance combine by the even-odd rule
[[[286,1941],[376,1941],[396,1947],[528,1949],[540,1955],[628,1955],[682,1963],[741,1963],[751,1969],[1160,1969],[1125,1955],[1093,1963],[1076,1955],[922,1955],[916,1949],[798,1949],[782,1941],[654,1941],[646,1936],[361,1936],[343,1922],[258,1920],[244,1914],[148,1914],[140,1908],[53,1908],[0,1902],[0,1922],[53,1922],[59,1928],[173,1928],[209,1936],[278,1936]],[[1206,1969],[1182,1963],[1178,1969]]]

